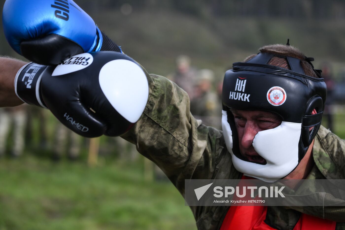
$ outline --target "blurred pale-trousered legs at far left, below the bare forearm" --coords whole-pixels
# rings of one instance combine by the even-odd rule
[[[27,104],[23,104],[16,107],[0,108],[0,156],[6,152],[11,127],[13,127],[11,155],[22,155],[25,147],[24,132],[27,107]]]

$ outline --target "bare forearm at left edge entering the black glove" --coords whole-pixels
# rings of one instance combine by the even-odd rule
[[[14,92],[14,78],[26,63],[21,60],[0,57],[0,107],[23,104]]]

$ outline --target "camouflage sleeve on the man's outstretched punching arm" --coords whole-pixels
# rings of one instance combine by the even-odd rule
[[[147,74],[149,98],[139,121],[121,137],[157,164],[177,189],[184,180],[212,178],[221,131],[200,125],[190,114],[189,97],[165,77]],[[218,144],[216,144],[218,143]]]

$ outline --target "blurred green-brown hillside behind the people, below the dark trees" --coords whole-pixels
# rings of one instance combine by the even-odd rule
[[[128,1],[133,4],[124,15],[120,3],[126,1],[76,2],[127,55],[150,73],[166,76],[174,71],[175,58],[186,54],[192,58],[194,66],[213,69],[221,80],[233,62],[257,53],[263,45],[285,44],[287,38],[291,45],[314,57],[316,67],[323,61],[330,61],[336,72],[343,70],[345,17],[336,17],[338,14],[332,13],[332,9],[327,12],[333,17],[319,18],[293,14],[270,16],[270,11],[253,15],[253,10],[246,16],[239,13],[214,15],[208,8],[202,15],[193,15],[184,9],[176,10],[170,3],[162,7],[153,1],[155,4],[150,7],[148,3],[133,0]],[[343,7],[343,3],[340,6]],[[3,55],[20,57],[8,46],[2,32],[0,41]]]

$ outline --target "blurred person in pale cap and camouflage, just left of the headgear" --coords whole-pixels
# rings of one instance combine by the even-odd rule
[[[197,72],[194,97],[190,100],[190,112],[204,124],[219,127],[219,116],[217,116],[219,111],[216,111],[219,108],[218,97],[212,90],[214,78],[214,72],[210,69],[201,69]]]

